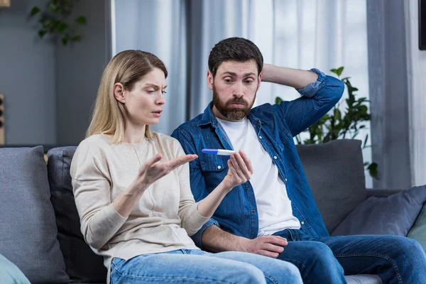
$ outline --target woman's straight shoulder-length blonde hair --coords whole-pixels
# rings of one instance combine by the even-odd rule
[[[86,138],[94,134],[112,135],[111,143],[123,141],[128,114],[124,104],[114,97],[114,84],[123,84],[124,89],[131,90],[141,77],[158,68],[167,78],[168,72],[163,61],[152,53],[141,50],[124,50],[112,58],[105,67],[99,84],[92,120],[86,131]],[[152,138],[149,126],[145,135]]]

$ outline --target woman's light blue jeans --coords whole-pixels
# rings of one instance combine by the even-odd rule
[[[111,284],[133,283],[302,283],[288,262],[253,253],[207,253],[180,249],[111,261]]]

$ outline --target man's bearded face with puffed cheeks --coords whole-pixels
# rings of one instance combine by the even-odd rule
[[[243,120],[253,107],[261,77],[254,60],[222,62],[215,77],[208,71],[207,83],[213,90],[214,115],[228,121]]]

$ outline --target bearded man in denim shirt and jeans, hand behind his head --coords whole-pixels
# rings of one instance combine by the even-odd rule
[[[302,97],[251,109],[262,80],[294,87]],[[207,84],[213,102],[172,134],[187,154],[199,156],[190,163],[195,199],[204,198],[227,174],[229,156],[207,155],[203,148],[242,149],[251,159],[253,175],[226,195],[195,235],[198,246],[290,261],[305,283],[346,283],[344,273],[377,273],[384,283],[426,283],[425,251],[417,241],[330,237],[324,226],[293,136],[332,109],[344,92],[342,81],[316,69],[263,65],[250,40],[228,38],[209,55]]]

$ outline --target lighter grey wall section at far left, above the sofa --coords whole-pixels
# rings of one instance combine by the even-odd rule
[[[38,39],[34,5],[11,1],[0,9],[0,93],[5,99],[6,145],[56,143],[55,45]]]

